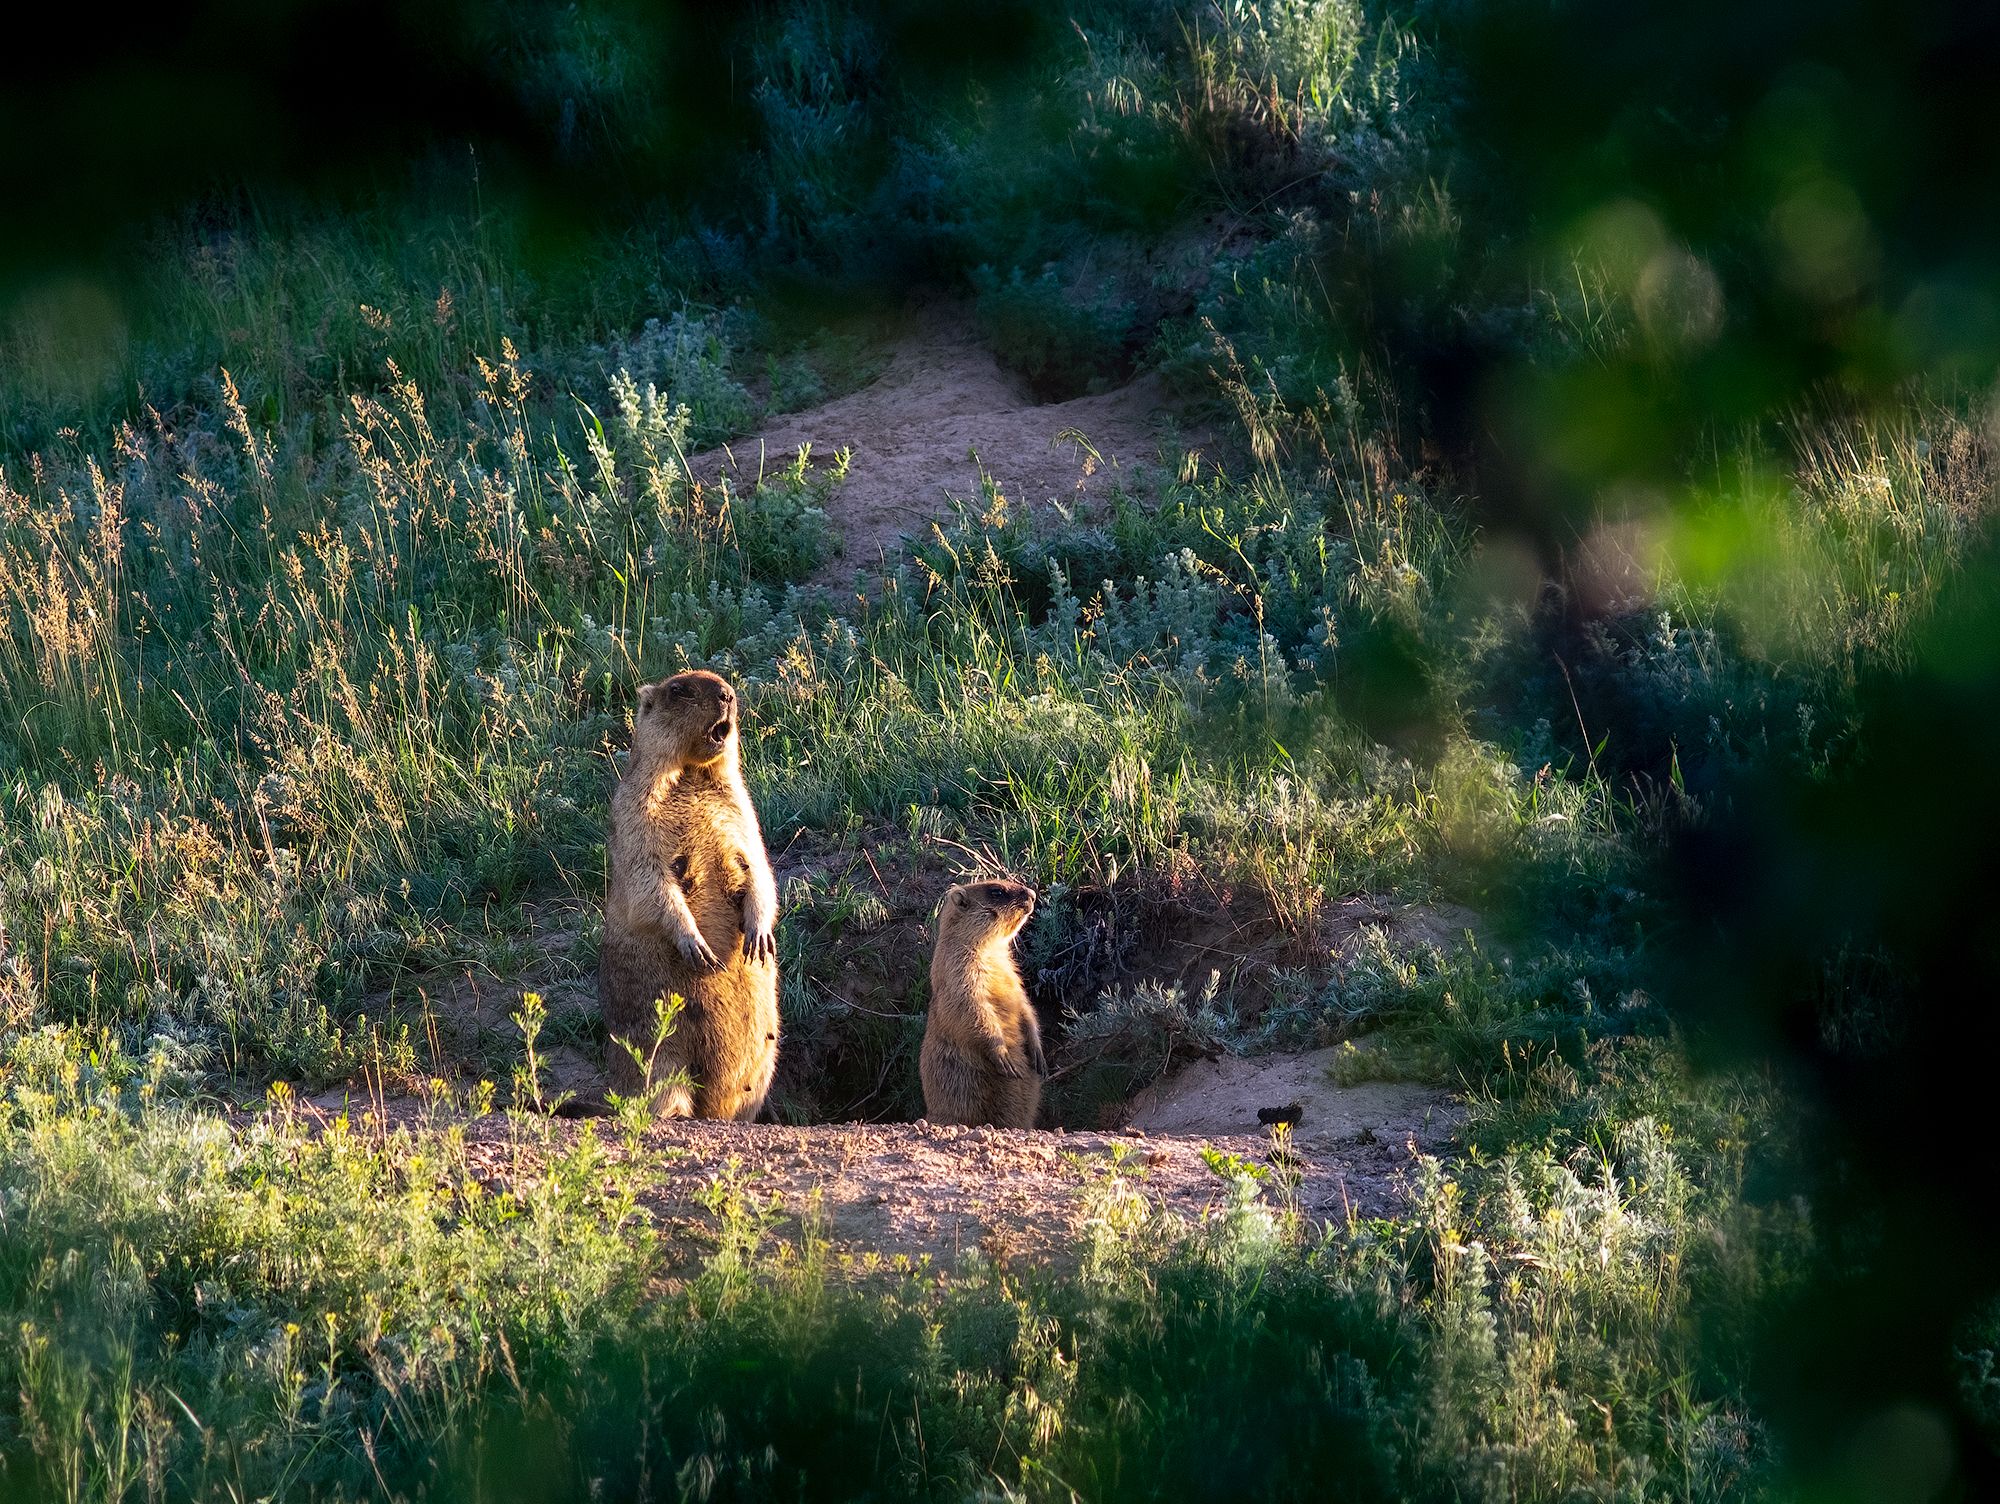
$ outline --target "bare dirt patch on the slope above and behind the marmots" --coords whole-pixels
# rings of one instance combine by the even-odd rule
[[[814,466],[850,450],[846,480],[828,502],[844,552],[816,576],[836,586],[880,564],[906,534],[948,516],[950,498],[978,500],[982,470],[1010,504],[1034,516],[1050,502],[1088,504],[1206,442],[1180,430],[1152,376],[1100,396],[1036,404],[970,328],[964,310],[918,318],[886,370],[860,392],[694,456],[694,476],[706,484],[730,476],[744,488],[790,464],[802,446],[810,446]]]

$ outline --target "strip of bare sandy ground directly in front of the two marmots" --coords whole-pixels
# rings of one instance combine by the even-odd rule
[[[810,1222],[836,1264],[854,1272],[924,1256],[948,1268],[970,1248],[1070,1266],[1114,1178],[1154,1208],[1200,1220],[1228,1202],[1204,1148],[1258,1166],[1266,1200],[1312,1224],[1394,1214],[1414,1156],[1450,1152],[1458,1112],[1432,1088],[1332,1086],[1320,1058],[1328,1054],[1200,1062],[1134,1104],[1134,1126],[1120,1132],[668,1122],[640,1140],[640,1200],[688,1266],[714,1248],[720,1224],[706,1198],[720,1182],[770,1208],[772,1238],[796,1244]],[[1274,1092],[1306,1110],[1290,1146],[1256,1126],[1256,1106]],[[306,1112],[326,1120],[346,1112],[362,1132],[424,1116],[414,1100],[328,1098]],[[1234,1130],[1194,1126],[1212,1112]],[[538,1120],[524,1136],[488,1114],[464,1124],[474,1174],[494,1190],[512,1186],[522,1156],[542,1152],[544,1130],[550,1148],[598,1134],[616,1158],[630,1152],[604,1120]]]

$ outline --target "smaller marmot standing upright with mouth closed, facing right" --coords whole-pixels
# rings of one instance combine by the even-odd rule
[[[944,896],[920,1058],[930,1122],[1034,1128],[1048,1062],[1008,950],[1032,912],[1024,882],[962,882]]]

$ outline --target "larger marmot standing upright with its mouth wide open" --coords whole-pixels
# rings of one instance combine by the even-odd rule
[[[688,1008],[658,1040],[656,1002],[676,992]],[[656,1116],[750,1120],[764,1108],[778,1064],[778,886],[738,766],[736,690],[716,674],[638,692],[612,792],[598,1006],[614,1092],[638,1096],[686,1068],[692,1092],[660,1092]]]

